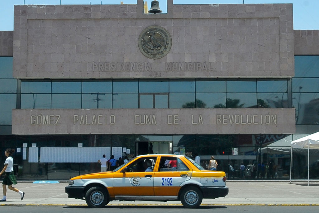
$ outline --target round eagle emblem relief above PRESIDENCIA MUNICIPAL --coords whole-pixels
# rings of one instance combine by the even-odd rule
[[[139,36],[138,47],[148,58],[164,57],[172,46],[172,39],[166,29],[159,26],[145,28]]]

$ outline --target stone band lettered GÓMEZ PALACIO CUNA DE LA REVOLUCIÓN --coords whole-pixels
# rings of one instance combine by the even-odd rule
[[[292,133],[294,112],[294,109],[282,108],[18,109],[12,112],[12,133]]]

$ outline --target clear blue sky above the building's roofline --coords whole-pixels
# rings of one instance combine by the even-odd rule
[[[167,1],[158,0],[160,9],[167,11]],[[293,28],[319,29],[319,0],[174,0],[173,4],[293,4]],[[0,0],[0,31],[13,30],[13,5],[15,4],[120,4],[121,0]],[[124,4],[136,4],[137,0],[122,0]],[[152,0],[147,0],[150,7]]]

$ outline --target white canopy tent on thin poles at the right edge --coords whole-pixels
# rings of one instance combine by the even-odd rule
[[[307,135],[303,138],[291,141],[291,157],[290,157],[290,183],[291,183],[291,164],[292,164],[292,152],[293,148],[304,148],[308,149],[308,186],[309,186],[309,149],[319,149],[319,132]]]

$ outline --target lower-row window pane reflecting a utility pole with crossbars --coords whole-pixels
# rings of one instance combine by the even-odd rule
[[[112,94],[110,93],[90,93],[82,94],[83,109],[111,109]]]

